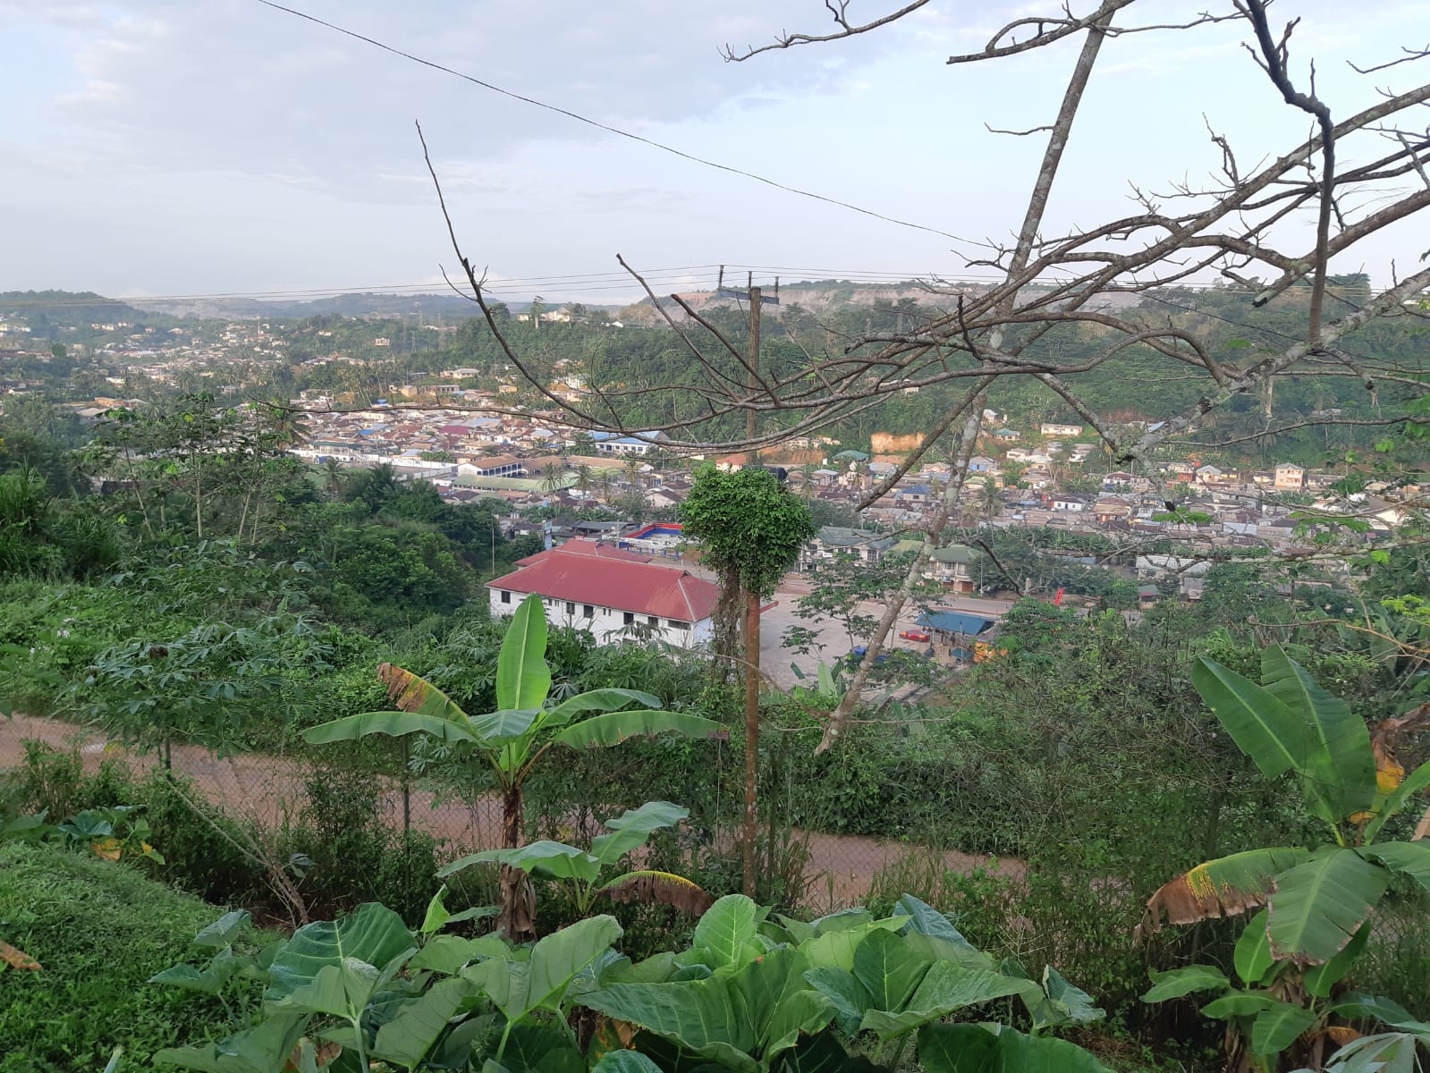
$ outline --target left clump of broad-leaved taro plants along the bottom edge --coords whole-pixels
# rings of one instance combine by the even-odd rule
[[[249,1007],[256,1023],[217,1043],[162,1050],[156,1063],[207,1073],[576,1073],[583,1062],[566,1017],[583,990],[631,964],[611,950],[621,926],[608,916],[531,947],[436,936],[419,949],[396,913],[369,903],[299,929],[259,959],[232,954],[243,917],[229,914],[199,934],[200,946],[223,943],[207,966],[176,966],[152,983],[222,994],[242,977],[262,987]]]

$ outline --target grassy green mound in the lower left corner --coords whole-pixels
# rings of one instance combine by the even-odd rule
[[[219,910],[122,866],[49,846],[0,846],[0,939],[40,971],[0,971],[0,1073],[149,1069],[160,1047],[223,1032],[200,996],[146,986]],[[3,964],[0,964],[3,969]]]

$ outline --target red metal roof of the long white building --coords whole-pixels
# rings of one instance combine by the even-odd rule
[[[613,559],[569,551],[571,544],[523,559],[488,588],[536,592],[548,599],[595,604],[638,615],[659,615],[681,622],[709,618],[719,601],[719,587],[684,569],[649,562]]]

